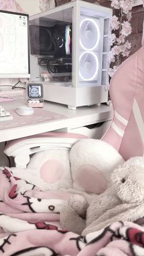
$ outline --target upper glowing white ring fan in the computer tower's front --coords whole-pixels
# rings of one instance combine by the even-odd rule
[[[93,49],[95,49],[96,46],[98,45],[99,38],[100,38],[98,24],[90,18],[85,18],[80,23],[80,34],[81,34],[81,37],[80,37],[81,47],[86,51],[87,50],[93,51]],[[82,37],[83,37],[83,41],[82,41]],[[85,44],[87,43],[89,44],[90,48],[88,46],[87,47],[85,46]]]

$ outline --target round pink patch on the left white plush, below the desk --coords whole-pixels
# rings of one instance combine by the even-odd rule
[[[40,168],[40,177],[48,183],[55,183],[60,180],[62,176],[63,166],[55,159],[46,161]]]

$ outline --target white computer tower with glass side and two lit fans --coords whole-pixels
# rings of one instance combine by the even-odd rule
[[[31,82],[68,108],[107,101],[112,9],[76,0],[30,17]]]

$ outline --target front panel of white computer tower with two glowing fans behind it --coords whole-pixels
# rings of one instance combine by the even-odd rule
[[[103,70],[104,12],[81,7],[79,33],[79,86],[101,86]],[[105,43],[105,44],[104,44]],[[104,46],[103,46],[104,44]],[[107,60],[106,60],[107,62]],[[107,69],[107,66],[105,67]]]

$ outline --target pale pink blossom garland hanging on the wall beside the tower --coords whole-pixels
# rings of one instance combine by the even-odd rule
[[[131,49],[131,43],[126,40],[126,37],[131,34],[131,9],[134,0],[111,0],[111,6],[114,9],[120,10],[120,16],[112,16],[110,26],[112,34],[110,35],[110,45],[112,48],[108,53],[109,64],[113,63],[113,67],[109,68],[110,77],[120,65],[120,57],[128,57]],[[117,33],[115,33],[115,31]]]

